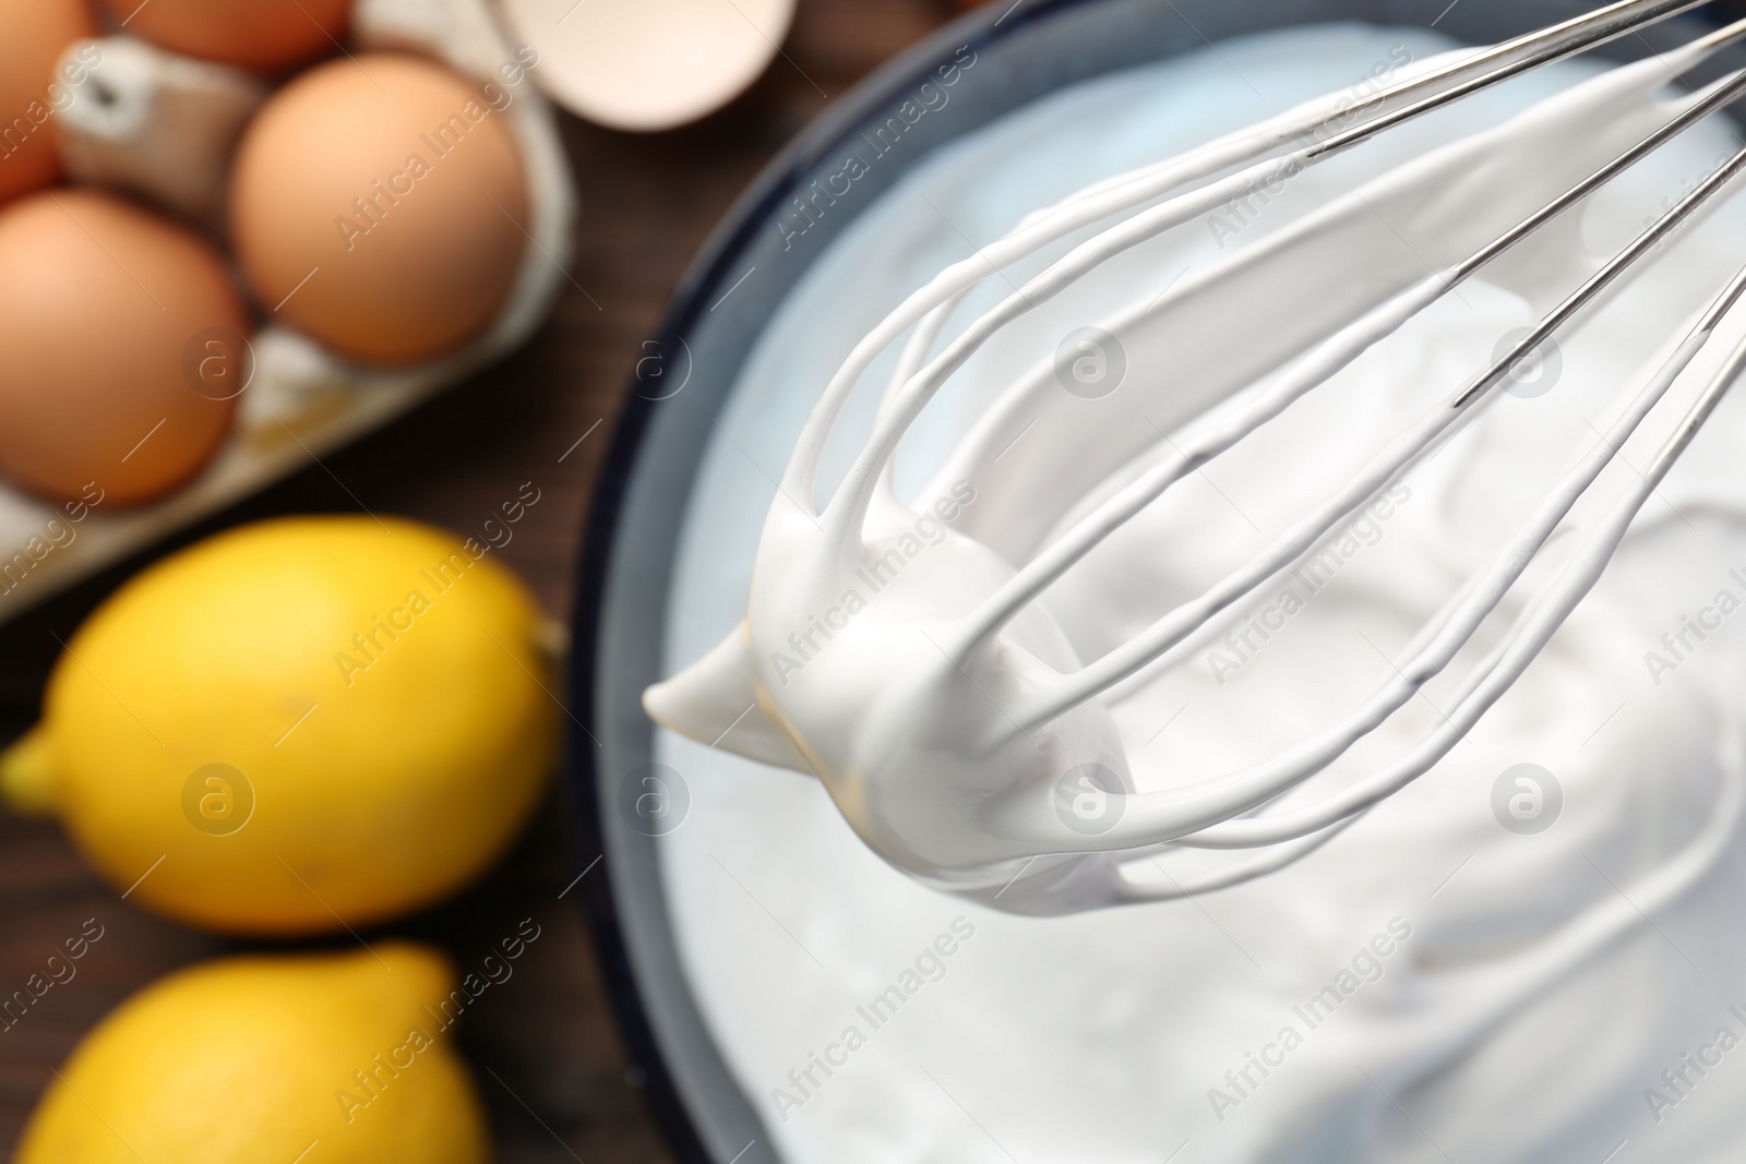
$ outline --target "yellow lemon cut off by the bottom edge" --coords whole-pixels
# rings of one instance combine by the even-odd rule
[[[250,956],[171,974],[73,1051],[16,1164],[482,1164],[485,1119],[419,946]]]

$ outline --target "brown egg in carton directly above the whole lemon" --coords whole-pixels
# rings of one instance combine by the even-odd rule
[[[54,501],[175,489],[218,448],[248,316],[218,253],[96,190],[0,209],[0,475]],[[223,400],[218,400],[223,396]]]

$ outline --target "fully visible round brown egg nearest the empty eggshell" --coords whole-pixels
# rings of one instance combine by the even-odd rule
[[[484,332],[527,248],[506,101],[400,54],[285,86],[243,134],[230,185],[257,300],[363,363],[430,359]]]

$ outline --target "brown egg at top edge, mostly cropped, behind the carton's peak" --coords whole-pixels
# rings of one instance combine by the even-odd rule
[[[136,37],[175,52],[279,72],[337,51],[351,0],[103,0]]]

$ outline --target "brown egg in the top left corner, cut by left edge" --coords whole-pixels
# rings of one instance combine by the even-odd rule
[[[54,115],[84,73],[58,77],[56,63],[96,35],[82,0],[0,0],[0,202],[59,180]]]

